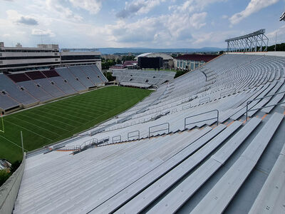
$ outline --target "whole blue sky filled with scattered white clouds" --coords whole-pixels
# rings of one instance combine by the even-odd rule
[[[285,0],[0,0],[0,41],[61,48],[226,47],[266,29],[285,42]]]

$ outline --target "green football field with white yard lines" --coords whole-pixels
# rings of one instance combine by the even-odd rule
[[[25,151],[32,151],[95,126],[134,106],[151,92],[109,86],[5,116],[5,132],[0,132],[0,159],[22,159],[20,131]]]

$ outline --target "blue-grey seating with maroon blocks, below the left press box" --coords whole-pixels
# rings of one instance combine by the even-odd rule
[[[103,86],[106,82],[108,80],[95,65],[0,74],[0,108],[4,111],[25,108]]]

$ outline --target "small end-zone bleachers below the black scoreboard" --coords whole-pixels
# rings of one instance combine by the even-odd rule
[[[113,76],[123,86],[148,88],[152,85],[160,86],[165,81],[173,80],[175,72],[125,69],[113,70]]]

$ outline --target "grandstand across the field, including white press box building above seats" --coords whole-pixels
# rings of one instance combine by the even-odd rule
[[[6,47],[0,42],[0,113],[105,86],[97,49]]]

